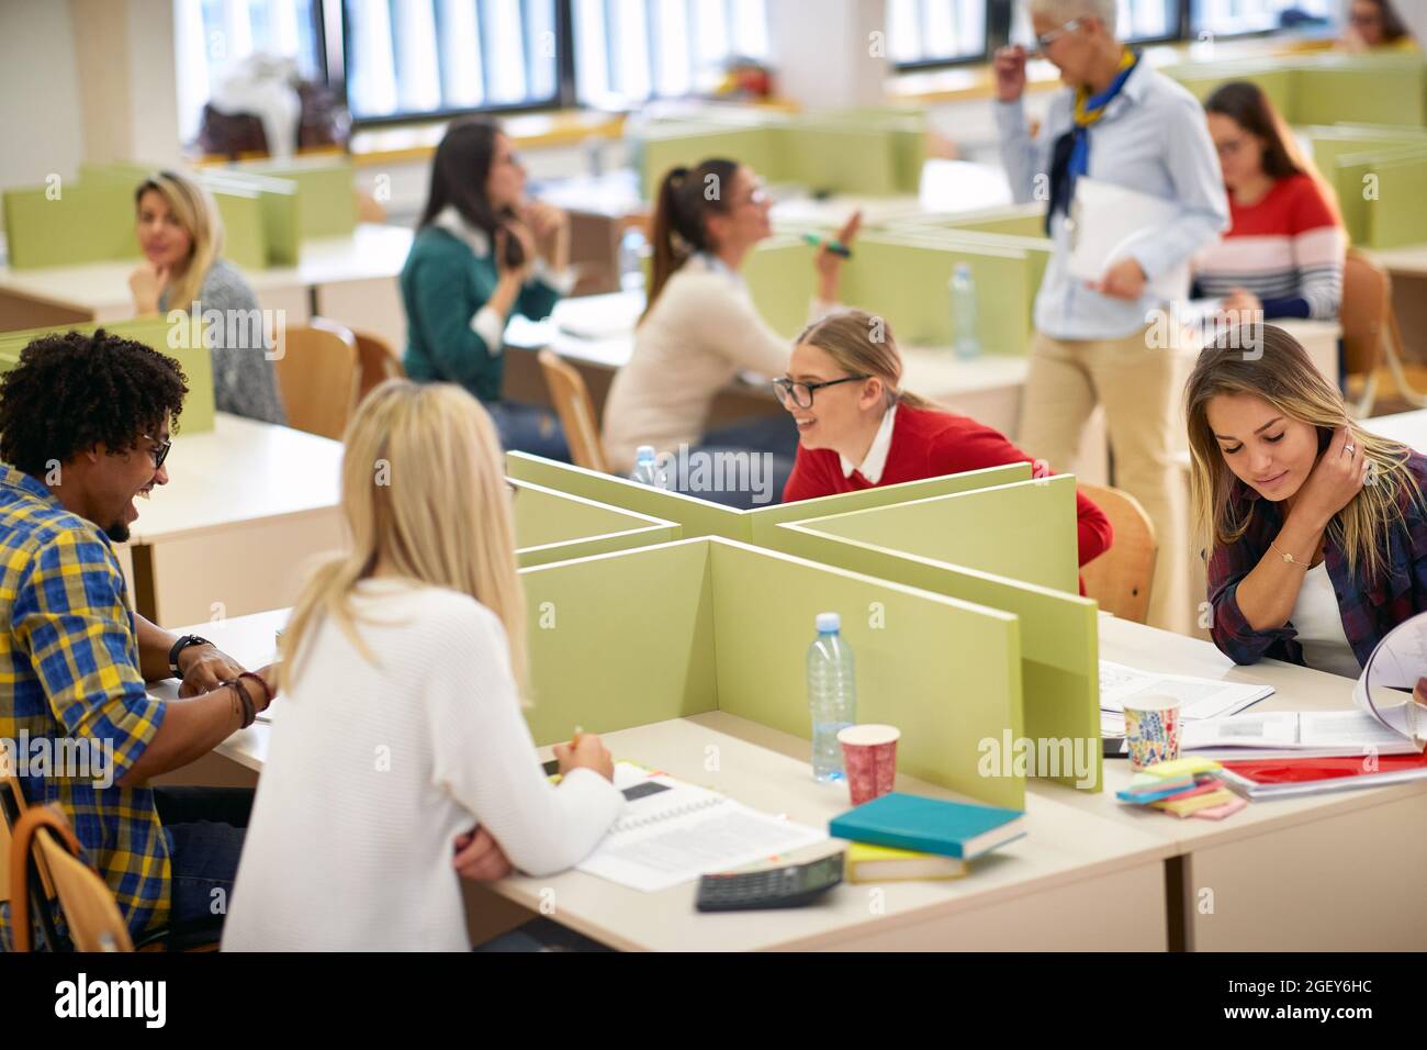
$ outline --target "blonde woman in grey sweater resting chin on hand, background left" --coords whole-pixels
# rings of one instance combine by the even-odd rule
[[[187,176],[158,171],[140,183],[134,207],[144,253],[128,276],[137,313],[191,311],[213,357],[218,410],[285,423],[258,300],[237,267],[221,257],[223,219],[213,197]],[[210,311],[218,324],[208,323]]]

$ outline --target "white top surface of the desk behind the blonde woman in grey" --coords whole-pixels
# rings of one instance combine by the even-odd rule
[[[405,226],[362,223],[350,237],[303,241],[297,266],[244,270],[243,276],[260,294],[270,289],[395,277],[407,261],[412,237],[414,231]],[[131,260],[37,270],[0,266],[0,290],[77,310],[113,310],[133,303],[128,274],[137,263],[136,256]]]

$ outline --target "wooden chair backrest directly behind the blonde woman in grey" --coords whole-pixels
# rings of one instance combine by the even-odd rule
[[[357,407],[357,337],[324,317],[288,329],[277,359],[287,424],[341,440]]]

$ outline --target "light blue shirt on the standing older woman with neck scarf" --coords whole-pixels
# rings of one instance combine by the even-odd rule
[[[1049,200],[1050,156],[1056,139],[1073,123],[1075,91],[1056,93],[1035,139],[1019,99],[993,104],[1012,194],[1019,203]],[[1130,251],[1149,279],[1173,270],[1229,229],[1229,199],[1203,107],[1143,60],[1090,127],[1089,176],[1179,204],[1173,223]],[[1072,276],[1070,230],[1063,213],[1050,220],[1050,239],[1055,250],[1036,294],[1036,329],[1045,334],[1123,339],[1144,327],[1150,320],[1146,314],[1164,306],[1150,291],[1137,301],[1102,296]]]

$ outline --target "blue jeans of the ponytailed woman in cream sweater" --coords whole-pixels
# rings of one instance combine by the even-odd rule
[[[783,486],[798,456],[792,416],[759,416],[709,430],[688,454],[674,454],[668,484],[674,491],[752,510],[782,503]]]

